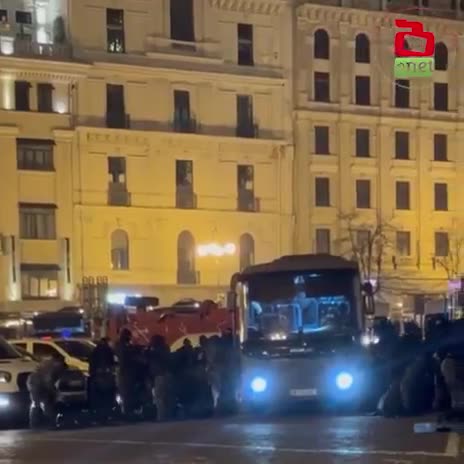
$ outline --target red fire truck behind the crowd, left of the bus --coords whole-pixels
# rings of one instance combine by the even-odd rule
[[[140,345],[147,345],[153,335],[163,335],[176,350],[185,338],[196,345],[201,335],[220,335],[232,327],[232,312],[210,300],[184,300],[160,307],[157,298],[131,297],[124,306],[110,307],[107,335],[115,342],[121,329],[128,328]]]

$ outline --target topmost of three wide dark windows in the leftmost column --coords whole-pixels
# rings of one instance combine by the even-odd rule
[[[16,139],[18,169],[53,171],[53,147],[53,140]]]

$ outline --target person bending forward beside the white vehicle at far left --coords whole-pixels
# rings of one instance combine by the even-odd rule
[[[27,380],[31,398],[29,424],[36,428],[42,424],[56,424],[56,390],[55,384],[67,370],[64,358],[58,354],[42,361]]]

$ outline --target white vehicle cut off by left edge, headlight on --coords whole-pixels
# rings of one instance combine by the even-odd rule
[[[27,417],[27,379],[37,363],[0,337],[0,421]]]

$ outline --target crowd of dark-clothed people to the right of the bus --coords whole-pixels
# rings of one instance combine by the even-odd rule
[[[464,412],[464,320],[437,318],[425,337],[414,323],[399,337],[385,324],[376,358],[389,379],[378,410],[385,416],[437,411],[445,418]],[[379,376],[380,377],[380,376]]]

